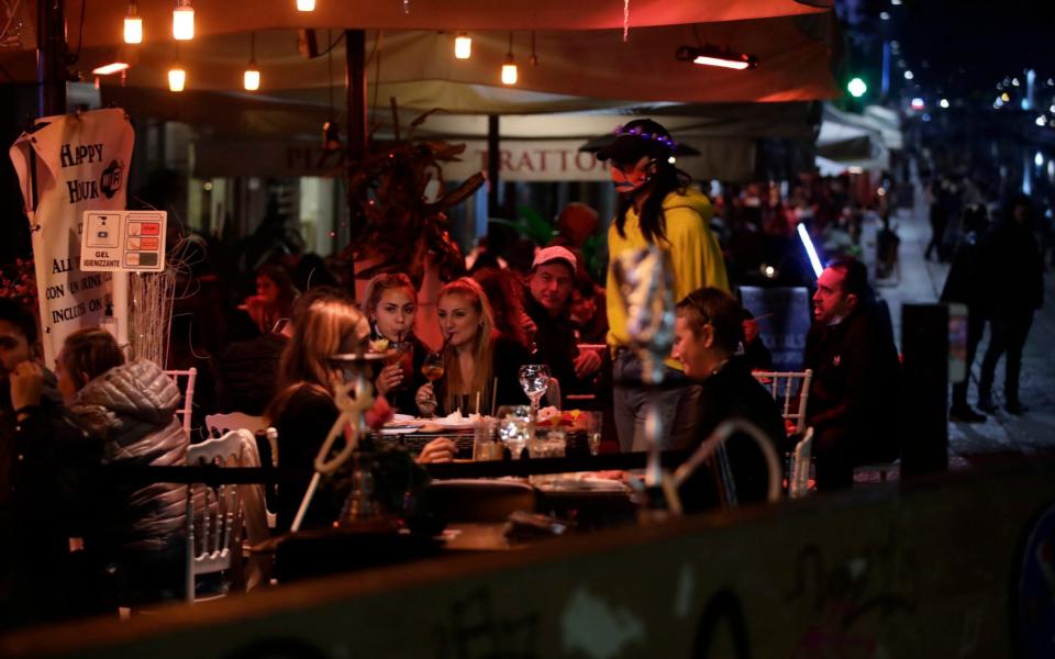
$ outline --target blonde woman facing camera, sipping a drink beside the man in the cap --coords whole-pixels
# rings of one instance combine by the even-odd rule
[[[523,344],[495,330],[495,316],[484,289],[463,277],[440,290],[436,300],[440,331],[444,336],[443,376],[418,389],[415,402],[422,414],[445,415],[455,410],[490,412],[496,405],[528,403],[518,371],[528,362]]]

